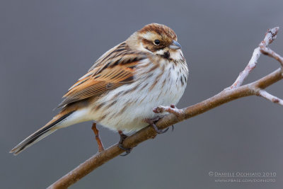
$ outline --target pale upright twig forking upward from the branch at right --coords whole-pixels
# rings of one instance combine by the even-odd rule
[[[267,30],[267,33],[265,34],[265,39],[260,42],[259,47],[255,48],[253,51],[253,56],[250,58],[250,62],[248,62],[248,65],[246,68],[241,71],[236,81],[230,86],[230,88],[237,88],[238,86],[241,86],[243,84],[243,81],[246,79],[248,74],[250,74],[250,71],[253,71],[256,67],[256,63],[258,62],[258,58],[261,55],[260,47],[267,47],[267,45],[271,44],[273,40],[276,39],[277,33],[278,33],[279,27],[275,27],[272,29]]]

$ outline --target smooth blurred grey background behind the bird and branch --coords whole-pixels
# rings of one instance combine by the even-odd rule
[[[45,125],[76,79],[147,23],[175,30],[190,67],[179,108],[231,85],[267,28],[283,55],[283,1],[0,2],[1,188],[46,188],[96,153],[91,122],[68,127],[19,156],[8,151]],[[260,57],[254,81],[277,69]],[[283,97],[283,83],[268,88]],[[248,97],[175,125],[71,188],[282,188],[283,108]],[[101,128],[101,127],[99,127]],[[105,147],[119,136],[101,128]],[[275,172],[275,183],[216,183],[209,171]]]

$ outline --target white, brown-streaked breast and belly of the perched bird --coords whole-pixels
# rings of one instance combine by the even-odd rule
[[[97,104],[102,103],[103,108],[91,112],[93,120],[111,130],[122,130],[127,133],[148,125],[142,121],[144,118],[155,118],[166,114],[156,114],[152,110],[158,105],[178,103],[183,96],[187,81],[186,64],[166,61],[159,62],[160,67],[151,72],[149,71],[154,64],[137,69],[139,72],[135,82],[115,88],[100,98]],[[144,60],[141,67],[148,63],[148,59]],[[185,81],[181,81],[181,77]]]

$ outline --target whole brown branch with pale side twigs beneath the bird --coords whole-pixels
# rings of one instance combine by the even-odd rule
[[[241,84],[243,84],[243,80],[246,79],[250,71],[255,68],[255,64],[258,61],[258,58],[260,57],[261,53],[263,53],[264,55],[272,55],[272,57],[279,57],[275,59],[277,59],[277,61],[279,62],[282,61],[282,57],[277,54],[270,53],[269,49],[268,51],[264,51],[266,50],[266,45],[270,44],[273,40],[275,40],[278,30],[278,27],[273,28],[271,30],[267,30],[265,39],[260,42],[260,47],[257,47],[254,50],[253,57],[250,59],[248,66],[241,72],[241,74],[238,76],[238,78],[231,87],[224,89],[224,91],[221,91],[220,93],[216,94],[215,96],[212,96],[211,98],[208,98],[205,101],[202,101],[195,105],[191,105],[181,110],[178,110],[173,106],[171,106],[170,108],[164,106],[154,108],[154,111],[157,112],[169,111],[172,113],[166,115],[164,118],[161,118],[161,120],[158,120],[158,122],[156,122],[156,126],[158,127],[158,129],[165,129],[166,127],[169,127],[177,122],[187,120],[196,115],[207,112],[208,110],[216,108],[219,105],[228,103],[238,98],[243,98],[245,96],[262,96],[263,98],[266,98],[274,103],[279,103],[282,105],[283,101],[281,99],[272,96],[270,93],[267,93],[263,90],[264,88],[267,88],[267,86],[271,86],[277,81],[283,79],[282,68],[273,71],[271,74],[262,77],[258,81],[241,86]],[[280,63],[282,64],[282,62]],[[146,141],[147,139],[154,139],[154,137],[156,137],[156,131],[152,127],[145,127],[144,129],[139,130],[139,132],[136,132],[131,136],[127,137],[123,142],[123,147],[133,148],[136,147],[139,143]],[[63,176],[58,181],[50,185],[49,188],[68,188],[70,185],[76,183],[76,181],[79,181],[88,173],[91,173],[91,171],[93,171],[94,169],[105,164],[107,161],[115,158],[123,152],[124,150],[120,149],[118,147],[118,144],[114,144],[112,145],[112,147],[109,147],[108,149],[105,149],[104,151],[93,155],[90,159],[86,160],[85,162],[74,168],[73,171],[70,171],[69,173],[67,173],[67,175]]]

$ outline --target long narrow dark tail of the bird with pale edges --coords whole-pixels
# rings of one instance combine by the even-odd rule
[[[31,134],[29,137],[23,140],[20,144],[16,145],[13,149],[11,149],[10,153],[13,153],[15,156],[21,153],[24,149],[32,146],[36,142],[40,141],[41,139],[47,137],[49,134],[54,132],[58,129],[56,127],[59,125],[60,122],[65,120],[69,115],[74,113],[74,111],[71,111],[70,113],[64,114],[64,115],[57,115],[54,117],[53,120],[48,122],[44,127],[40,128],[40,130],[37,130],[33,134]]]

